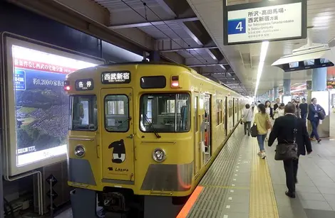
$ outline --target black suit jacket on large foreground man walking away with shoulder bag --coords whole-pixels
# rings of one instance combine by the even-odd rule
[[[306,128],[306,121],[297,118],[292,114],[280,116],[274,121],[274,126],[269,136],[269,146],[272,146],[274,140],[277,138],[278,143],[292,143],[293,142],[293,129],[294,122],[297,119],[296,142],[298,145],[299,155],[305,155],[306,151],[311,152],[311,141]]]

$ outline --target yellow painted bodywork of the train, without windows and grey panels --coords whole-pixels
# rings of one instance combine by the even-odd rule
[[[101,83],[102,72],[119,72],[129,71],[131,81],[128,84],[112,84],[103,85]],[[166,87],[162,89],[142,89],[140,87],[141,77],[165,75]],[[170,78],[179,76],[178,88],[171,87]],[[91,78],[93,80],[93,89],[86,91],[78,91],[75,89],[77,80]],[[242,104],[244,97],[233,92],[222,85],[208,80],[199,75],[195,70],[182,65],[102,65],[93,68],[78,70],[67,76],[67,80],[71,85],[70,95],[96,95],[97,97],[97,116],[98,129],[96,131],[69,131],[68,141],[68,157],[77,158],[74,155],[74,148],[81,144],[86,148],[86,155],[83,159],[88,160],[91,164],[96,185],[80,184],[90,190],[102,191],[104,187],[122,186],[133,190],[135,195],[169,195],[169,196],[187,196],[195,190],[197,183],[201,180],[205,172],[210,167],[212,161],[220,152],[222,146],[227,141],[225,136],[225,122],[227,121],[227,136],[230,136],[230,131],[233,129],[233,117],[235,117],[235,126],[238,124],[237,119],[242,113]],[[145,133],[140,131],[140,97],[144,93],[187,93],[190,94],[190,131],[185,133],[160,133],[161,138],[156,138],[154,133]],[[212,98],[212,117],[210,119],[212,125],[212,158],[209,163],[205,163],[202,156],[202,148],[200,141],[204,137],[200,133],[200,124],[205,114],[203,107],[204,94],[211,94]],[[123,132],[108,132],[105,129],[105,97],[108,94],[125,94],[129,100],[129,130]],[[198,102],[195,107],[195,97]],[[220,124],[217,124],[217,111],[220,108],[225,108],[225,102],[230,102],[230,116],[220,119]],[[200,99],[202,101],[200,101]],[[239,99],[240,104],[235,104],[233,109],[232,102]],[[202,102],[202,104],[200,104]],[[218,105],[217,102],[222,102]],[[237,114],[239,113],[239,114]],[[222,114],[227,114],[224,111]],[[195,118],[197,116],[197,118]],[[197,132],[195,119],[197,119]],[[78,140],[76,138],[79,138]],[[84,138],[82,140],[81,138]],[[122,163],[112,162],[112,149],[108,148],[111,142],[123,140],[125,143],[125,160]],[[153,160],[152,155],[155,148],[163,148],[166,153],[166,159],[163,163],[157,163]],[[150,190],[141,190],[141,186],[145,179],[145,175],[150,165],[182,165],[195,163],[192,172],[192,184],[190,189],[182,192],[170,190],[162,190],[151,192]],[[160,172],[159,175],[164,176]],[[105,182],[106,180],[110,182]],[[182,178],[180,178],[182,181]],[[124,183],[126,181],[126,183]],[[78,186],[71,181],[69,185]],[[164,193],[163,193],[164,191]],[[166,193],[165,193],[166,191]],[[162,194],[163,193],[163,194]]]

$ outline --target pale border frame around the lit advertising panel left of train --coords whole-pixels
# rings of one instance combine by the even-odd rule
[[[38,160],[32,163],[27,163],[25,165],[16,165],[16,114],[13,112],[8,112],[15,111],[15,102],[10,100],[15,99],[14,60],[11,49],[12,45],[18,45],[33,50],[39,50],[41,52],[50,53],[53,55],[61,55],[66,58],[73,58],[76,60],[91,62],[96,65],[101,65],[105,63],[105,60],[103,60],[102,58],[96,58],[91,55],[78,53],[73,50],[68,50],[66,48],[61,48],[48,43],[43,43],[41,41],[33,40],[31,38],[25,38],[23,36],[19,36],[13,33],[1,33],[1,80],[4,84],[1,90],[1,104],[5,106],[1,111],[1,121],[3,122],[4,126],[4,130],[2,131],[3,137],[1,138],[1,141],[3,143],[2,146],[4,147],[4,153],[2,154],[2,158],[4,161],[4,175],[9,176],[25,173],[29,170],[41,168],[45,165],[58,163],[60,161],[66,160],[67,157],[67,154],[64,153],[63,155],[51,156],[49,158]]]

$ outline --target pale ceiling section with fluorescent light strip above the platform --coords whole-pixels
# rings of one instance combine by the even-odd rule
[[[260,0],[227,0],[227,5],[246,4]],[[278,1],[278,0],[277,0]],[[261,43],[244,45],[223,45],[223,12],[222,0],[187,0],[195,14],[212,36],[215,44],[229,60],[242,84],[252,93],[256,85],[257,69]],[[335,29],[331,23],[335,22],[334,0],[308,0],[307,1],[307,26],[311,28],[313,43],[329,43],[335,37]],[[259,81],[257,94],[264,94],[274,86],[282,87],[284,71],[272,67],[272,63],[284,55],[292,54],[292,50],[306,44],[303,40],[285,40],[270,42],[264,62],[262,77]],[[292,88],[311,80],[311,70],[301,70],[291,73]],[[334,73],[329,73],[334,77]]]

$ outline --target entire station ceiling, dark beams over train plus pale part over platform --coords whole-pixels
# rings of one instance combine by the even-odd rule
[[[252,96],[261,43],[223,45],[222,0],[7,0],[68,26],[142,55],[160,51],[161,58],[193,67],[235,91]],[[228,5],[261,0],[227,0]],[[308,0],[307,26],[314,43],[335,37],[334,0]],[[284,72],[272,63],[306,44],[306,40],[269,43],[257,94],[282,86]],[[334,77],[334,70],[329,77]],[[310,80],[311,71],[291,73],[292,86]]]

